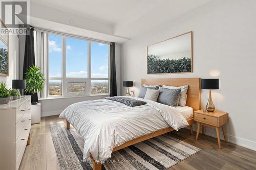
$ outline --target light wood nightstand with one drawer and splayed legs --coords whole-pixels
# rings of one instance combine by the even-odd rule
[[[199,136],[200,126],[202,125],[202,134],[204,134],[204,126],[215,128],[218,138],[218,146],[221,149],[220,131],[221,127],[225,142],[227,142],[224,125],[228,122],[228,113],[215,110],[214,112],[204,112],[203,110],[194,111],[194,120],[198,122],[197,136]]]

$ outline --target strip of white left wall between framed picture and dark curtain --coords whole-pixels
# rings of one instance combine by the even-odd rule
[[[9,76],[0,76],[0,82],[6,82],[12,88],[12,80],[19,79],[19,39],[15,35],[9,36]]]

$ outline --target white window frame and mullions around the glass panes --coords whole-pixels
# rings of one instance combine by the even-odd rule
[[[100,40],[94,40],[74,35],[67,35],[57,32],[46,32],[47,37],[47,82],[49,80],[61,80],[61,95],[49,95],[49,83],[47,84],[47,98],[66,98],[66,97],[72,97],[72,96],[94,96],[94,95],[106,95],[110,94],[110,42],[104,42]],[[59,35],[61,36],[61,42],[62,42],[62,51],[61,51],[61,77],[49,77],[49,34]],[[84,41],[88,41],[88,75],[87,78],[67,78],[66,77],[66,37],[74,38],[74,39],[80,39]],[[102,44],[107,44],[109,46],[109,57],[108,57],[108,78],[92,78],[91,77],[91,42],[97,42]],[[91,81],[92,80],[108,80],[108,93],[97,93],[97,94],[91,94]],[[69,82],[77,82],[77,83],[86,83],[86,92],[68,92]]]

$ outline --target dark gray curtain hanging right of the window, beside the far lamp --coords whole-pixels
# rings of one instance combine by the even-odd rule
[[[115,42],[110,43],[110,96],[117,95]]]

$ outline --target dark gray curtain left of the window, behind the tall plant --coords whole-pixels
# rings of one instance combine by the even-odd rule
[[[28,28],[26,34],[25,42],[25,53],[24,53],[24,63],[23,63],[23,79],[25,79],[25,72],[27,69],[35,65],[35,48],[34,48],[34,29]]]

